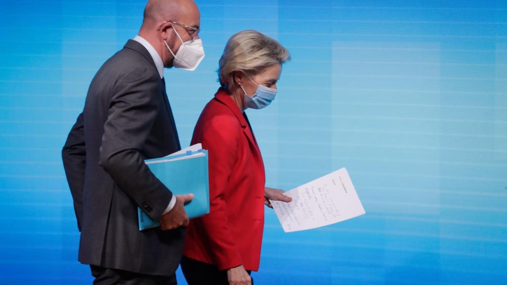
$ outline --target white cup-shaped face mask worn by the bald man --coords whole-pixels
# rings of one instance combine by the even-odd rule
[[[174,57],[172,65],[180,69],[190,71],[195,70],[195,68],[197,68],[199,63],[201,63],[202,59],[204,58],[204,48],[202,46],[201,39],[183,42],[182,38],[179,37],[179,34],[176,31],[176,29],[173,30],[176,33],[178,39],[182,42],[182,45],[179,46],[178,51],[176,52],[176,54],[174,54],[171,48],[169,48],[169,45],[167,45],[167,42],[164,41],[165,46]]]

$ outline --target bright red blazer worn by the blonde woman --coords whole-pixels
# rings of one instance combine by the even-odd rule
[[[223,88],[197,121],[192,144],[209,159],[209,214],[190,221],[183,254],[257,271],[264,229],[264,163],[246,115]]]

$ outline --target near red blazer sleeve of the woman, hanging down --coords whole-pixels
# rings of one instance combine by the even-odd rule
[[[193,220],[206,233],[219,270],[241,265],[242,259],[226,214],[225,190],[238,152],[241,127],[230,116],[217,116],[206,121],[202,147],[209,153],[209,213]]]

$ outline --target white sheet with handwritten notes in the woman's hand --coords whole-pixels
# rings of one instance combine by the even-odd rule
[[[285,232],[323,227],[365,214],[345,168],[284,194],[292,197],[292,202],[270,201]]]

